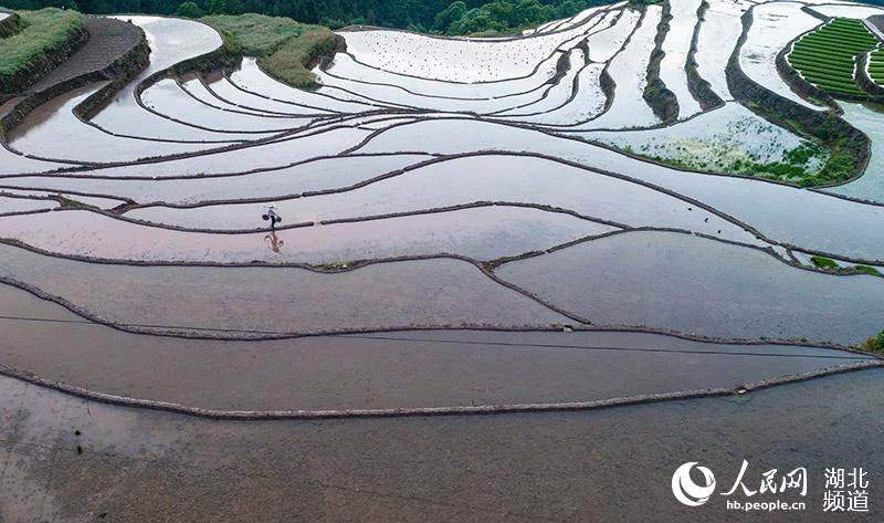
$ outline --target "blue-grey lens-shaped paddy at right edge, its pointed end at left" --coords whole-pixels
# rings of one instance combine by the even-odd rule
[[[854,344],[881,330],[884,310],[884,279],[821,274],[666,232],[619,234],[495,273],[596,323],[708,336]]]

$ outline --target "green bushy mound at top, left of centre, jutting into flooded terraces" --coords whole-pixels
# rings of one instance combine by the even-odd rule
[[[316,87],[309,70],[319,56],[332,54],[337,46],[335,33],[327,28],[287,18],[218,14],[200,21],[229,35],[240,52],[257,56],[267,74],[296,87]]]

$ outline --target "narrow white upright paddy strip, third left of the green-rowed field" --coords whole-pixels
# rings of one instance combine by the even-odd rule
[[[663,60],[660,62],[660,80],[675,94],[678,101],[678,117],[686,118],[699,113],[699,103],[687,87],[687,53],[697,24],[701,0],[670,0],[672,20],[663,40]]]

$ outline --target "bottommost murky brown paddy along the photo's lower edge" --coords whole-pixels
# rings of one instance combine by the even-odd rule
[[[0,515],[176,521],[183,506],[192,521],[221,513],[230,522],[293,513],[306,521],[427,521],[428,513],[486,523],[733,521],[726,498],[688,510],[670,483],[678,466],[701,460],[728,489],[745,459],[747,483],[770,468],[807,468],[808,495],[783,499],[808,510],[776,521],[824,521],[817,514],[825,468],[856,463],[871,485],[884,481],[882,378],[867,370],[739,398],[589,412],[264,423],[112,407],[4,379],[4,397],[14,399],[0,404],[8,457]],[[871,495],[870,514],[831,520],[874,521],[881,512]]]

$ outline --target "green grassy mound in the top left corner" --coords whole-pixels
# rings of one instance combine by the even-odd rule
[[[83,15],[73,11],[46,8],[22,11],[19,15],[22,30],[0,40],[0,91],[18,91],[18,81],[36,76],[38,71],[84,31]]]

